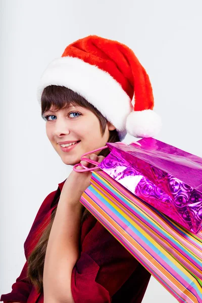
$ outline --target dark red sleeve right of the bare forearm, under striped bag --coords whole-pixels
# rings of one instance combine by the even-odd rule
[[[110,303],[139,262],[98,221],[85,236],[71,278],[75,303]]]

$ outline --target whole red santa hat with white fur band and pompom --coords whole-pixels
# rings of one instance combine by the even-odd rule
[[[82,95],[116,127],[120,140],[127,132],[153,137],[161,128],[161,118],[153,111],[149,77],[133,51],[118,41],[90,35],[69,44],[43,72],[37,88],[39,103],[48,85]]]

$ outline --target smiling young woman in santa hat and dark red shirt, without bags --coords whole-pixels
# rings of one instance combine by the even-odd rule
[[[148,137],[161,127],[134,53],[98,36],[68,45],[45,69],[37,96],[47,137],[67,165],[93,167],[81,161],[84,153],[123,140],[127,131]],[[108,154],[107,148],[86,157],[101,162]],[[90,177],[73,170],[44,199],[24,243],[26,263],[1,301],[142,301],[150,274],[79,201]]]

